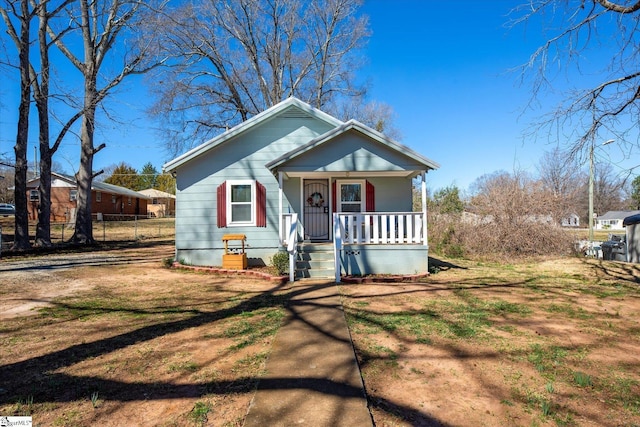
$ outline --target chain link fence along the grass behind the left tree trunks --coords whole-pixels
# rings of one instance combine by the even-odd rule
[[[51,243],[68,241],[75,231],[74,223],[51,223]],[[0,249],[13,246],[15,221],[13,216],[0,217]],[[36,223],[29,222],[31,242],[36,235]],[[93,238],[97,242],[124,242],[138,240],[172,240],[175,238],[175,218],[147,218],[138,215],[109,215],[101,221],[93,220]]]

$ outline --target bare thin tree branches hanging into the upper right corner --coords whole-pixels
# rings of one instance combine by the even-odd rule
[[[564,100],[534,133],[568,141],[569,153],[582,159],[600,135],[615,136],[628,155],[637,150],[640,1],[529,0],[513,12],[514,24],[534,25],[534,18],[550,35],[521,67],[523,79],[531,79],[532,102],[547,90],[567,87]],[[571,78],[574,73],[582,78]],[[566,81],[557,84],[563,75]]]

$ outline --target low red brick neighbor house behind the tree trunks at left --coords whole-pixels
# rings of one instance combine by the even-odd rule
[[[40,203],[40,178],[27,183],[29,220],[37,220]],[[75,221],[78,186],[72,176],[51,173],[51,221]],[[94,218],[120,219],[134,215],[147,216],[150,198],[128,188],[94,181],[91,186],[91,211]]]

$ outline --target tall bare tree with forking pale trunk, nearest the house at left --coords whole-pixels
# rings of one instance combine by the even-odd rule
[[[79,7],[76,7],[76,4]],[[57,34],[48,27],[51,39],[80,71],[84,82],[80,167],[76,173],[76,228],[72,237],[72,241],[76,243],[86,244],[94,241],[91,183],[100,172],[93,171],[93,157],[105,147],[105,144],[97,147],[94,145],[96,110],[112,89],[127,76],[145,73],[158,65],[154,32],[149,31],[150,27],[142,25],[153,20],[153,7],[155,6],[150,2],[142,0],[77,0],[71,4],[65,10],[68,19],[79,29],[83,57],[76,55],[72,48],[76,39],[71,38],[67,41],[67,34]],[[109,54],[113,54],[121,62],[117,71],[112,74],[103,70]]]

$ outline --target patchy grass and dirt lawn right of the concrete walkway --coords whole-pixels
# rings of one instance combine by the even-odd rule
[[[343,285],[377,426],[640,426],[640,269],[444,263]]]

